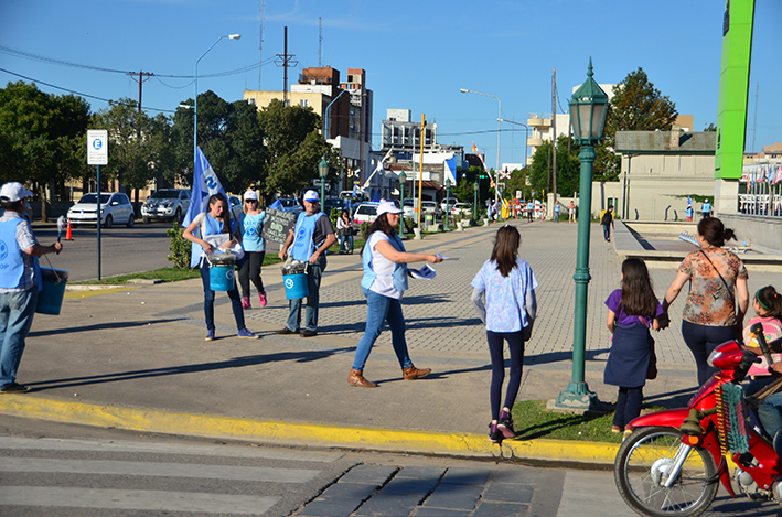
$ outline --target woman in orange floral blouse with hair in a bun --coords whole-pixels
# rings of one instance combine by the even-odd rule
[[[736,239],[736,234],[731,228],[725,228],[721,220],[716,217],[701,219],[696,238],[700,249],[682,261],[678,274],[665,293],[663,309],[667,314],[668,306],[689,281],[682,335],[695,357],[698,385],[703,385],[718,371],[706,363],[711,351],[741,333],[749,306],[749,274],[741,260],[722,248],[726,240]]]

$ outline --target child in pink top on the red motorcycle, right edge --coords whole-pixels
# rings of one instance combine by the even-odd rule
[[[767,286],[754,293],[752,308],[756,316],[747,322],[747,326],[743,330],[743,341],[751,352],[762,355],[760,345],[752,337],[749,330],[756,323],[760,323],[763,325],[763,335],[767,343],[782,337],[782,295],[776,292],[773,286]],[[744,395],[756,394],[772,383],[775,377],[782,376],[782,354],[772,354],[771,358],[773,359],[771,364],[773,374],[770,375],[769,365],[764,357],[761,363],[752,365],[749,369],[748,375],[752,376],[752,381],[744,389]],[[782,392],[776,392],[760,403],[758,418],[765,432],[773,439],[776,431],[782,429]]]

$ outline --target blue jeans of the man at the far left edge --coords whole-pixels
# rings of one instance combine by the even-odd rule
[[[0,294],[0,388],[17,380],[38,303],[35,288],[24,292]]]

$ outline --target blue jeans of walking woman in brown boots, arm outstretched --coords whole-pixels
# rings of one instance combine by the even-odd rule
[[[372,352],[372,345],[377,341],[377,336],[383,331],[383,323],[388,322],[392,331],[392,345],[394,353],[399,360],[401,369],[413,366],[410,356],[407,353],[407,341],[405,340],[405,316],[401,314],[401,300],[377,294],[368,289],[361,288],[366,297],[366,331],[356,347],[353,369],[364,371],[364,365]]]

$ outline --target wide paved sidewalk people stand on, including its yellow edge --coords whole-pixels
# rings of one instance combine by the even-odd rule
[[[551,399],[570,380],[577,225],[517,224],[521,256],[540,283],[539,310],[526,346],[519,399]],[[246,311],[260,340],[236,337],[228,299],[215,304],[217,340],[205,342],[201,281],[66,294],[60,316],[36,315],[19,371],[35,391],[0,397],[0,413],[139,431],[269,442],[291,446],[430,452],[612,463],[615,446],[526,441],[492,445],[491,367],[485,334],[470,303],[470,281],[485,261],[497,225],[408,240],[408,250],[459,258],[435,266],[431,281],[411,281],[404,298],[410,355],[429,377],[410,383],[378,338],[365,376],[377,389],[346,383],[366,317],[358,255],[330,256],[321,288],[319,335],[279,336],[288,303],[279,267],[263,271],[269,304]],[[614,245],[591,227],[587,381],[600,400],[609,340],[602,304],[618,287]],[[653,269],[657,297],[675,269]],[[782,273],[753,273],[750,291],[782,284]],[[682,310],[683,297],[672,309]],[[660,378],[646,385],[655,403],[686,402],[695,370],[677,324],[656,334]],[[666,402],[667,401],[667,402]]]

